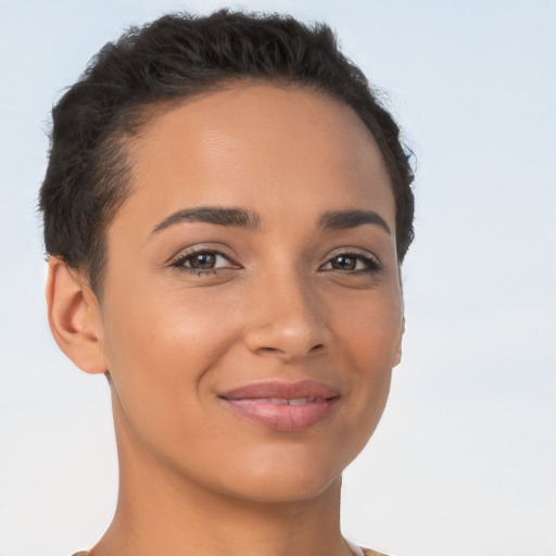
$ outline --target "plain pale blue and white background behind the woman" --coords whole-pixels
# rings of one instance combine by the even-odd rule
[[[126,25],[222,5],[0,1],[0,556],[89,547],[116,494],[105,380],[47,326],[51,105]],[[239,5],[336,27],[418,160],[404,361],[345,472],[344,534],[399,556],[554,556],[556,3]]]

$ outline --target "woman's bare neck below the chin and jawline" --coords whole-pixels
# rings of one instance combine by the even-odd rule
[[[136,451],[119,433],[116,513],[91,556],[352,555],[340,532],[341,478],[311,500],[253,502],[205,489]]]

